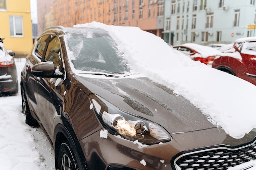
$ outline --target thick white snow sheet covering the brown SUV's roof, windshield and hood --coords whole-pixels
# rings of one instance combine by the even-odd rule
[[[77,26],[109,31],[137,72],[184,96],[231,137],[241,138],[256,127],[256,87],[251,83],[192,61],[138,27],[97,22]]]

